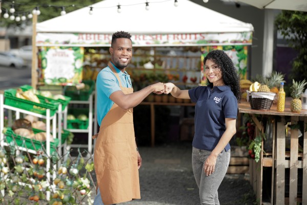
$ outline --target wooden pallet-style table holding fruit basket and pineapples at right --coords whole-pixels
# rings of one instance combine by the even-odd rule
[[[290,110],[291,98],[286,98],[286,106],[284,112],[277,112],[276,105],[272,105],[268,111],[252,110],[250,104],[243,100],[239,104],[239,113],[248,113],[253,119],[256,127],[255,134],[259,132],[265,133],[265,127],[261,120],[258,120],[257,115],[272,119],[273,123],[273,138],[272,138],[272,153],[261,152],[258,163],[250,160],[250,183],[253,186],[256,198],[262,204],[262,172],[264,167],[272,167],[271,181],[271,203],[264,204],[307,204],[306,194],[302,194],[302,198],[297,197],[298,185],[298,169],[303,169],[302,193],[307,193],[307,110],[302,110],[300,113],[293,113]],[[304,131],[303,137],[303,153],[298,152],[298,129],[291,130],[290,143],[291,151],[286,152],[286,117],[291,118],[291,125],[295,125],[298,121],[303,121]],[[263,151],[262,142],[262,151]],[[289,160],[290,158],[290,160]],[[290,183],[289,183],[289,198],[284,196],[285,193],[285,169],[290,168]],[[276,169],[276,170],[275,170]]]

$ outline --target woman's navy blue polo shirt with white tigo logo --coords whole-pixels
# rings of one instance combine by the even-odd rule
[[[195,134],[192,146],[212,151],[226,130],[225,118],[237,117],[237,99],[229,86],[196,87],[189,90],[195,105]],[[228,151],[227,144],[225,150]]]

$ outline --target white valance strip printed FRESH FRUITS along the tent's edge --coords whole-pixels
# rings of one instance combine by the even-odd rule
[[[37,33],[36,46],[105,46],[111,45],[111,34],[99,33]],[[252,32],[182,33],[132,35],[134,46],[205,46],[251,45]]]

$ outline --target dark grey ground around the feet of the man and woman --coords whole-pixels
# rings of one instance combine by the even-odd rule
[[[140,169],[142,199],[121,204],[200,204],[199,189],[191,167],[191,142],[140,147],[139,150],[143,159]],[[227,174],[218,191],[221,205],[249,205],[255,201],[248,175]]]

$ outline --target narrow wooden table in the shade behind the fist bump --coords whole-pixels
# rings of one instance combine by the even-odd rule
[[[195,106],[194,103],[157,103],[157,102],[142,102],[140,105],[150,106],[150,135],[151,147],[155,147],[155,106]]]

